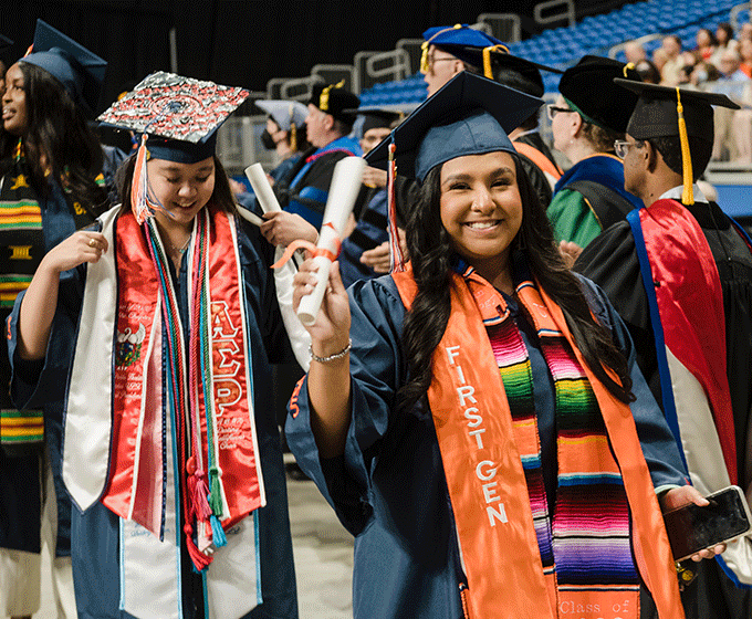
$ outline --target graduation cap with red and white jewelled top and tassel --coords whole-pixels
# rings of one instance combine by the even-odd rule
[[[196,164],[211,157],[217,129],[249,95],[243,88],[157,72],[100,116],[105,126],[142,134],[130,192],[139,223],[160,208],[148,193],[147,159]]]

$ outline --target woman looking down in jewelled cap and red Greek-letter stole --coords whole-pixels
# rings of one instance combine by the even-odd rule
[[[187,141],[182,102],[199,94]],[[272,248],[215,154],[248,94],[156,73],[105,112],[148,136],[124,202],[52,249],[13,308],[17,401],[66,396],[80,619],[297,618],[270,407],[270,365],[292,352]]]

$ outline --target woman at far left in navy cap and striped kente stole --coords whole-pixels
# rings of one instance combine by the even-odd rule
[[[44,255],[109,206],[102,148],[87,124],[106,65],[39,20],[32,52],[6,73],[0,129],[0,245],[8,250],[1,273],[3,324]],[[52,354],[58,352],[53,345]],[[0,613],[29,617],[36,610],[43,542],[51,553],[58,617],[72,619],[71,502],[60,469],[65,376],[55,377],[55,388],[40,406],[14,406],[6,347],[0,358]]]

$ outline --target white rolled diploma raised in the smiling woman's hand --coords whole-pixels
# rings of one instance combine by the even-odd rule
[[[345,229],[347,218],[353,212],[353,206],[361,191],[365,166],[365,159],[362,157],[345,157],[334,167],[317,248],[327,250],[333,254],[337,253],[338,240],[342,239],[342,231]],[[304,325],[312,325],[318,315],[321,302],[324,298],[324,292],[326,292],[330,267],[332,266],[332,261],[325,255],[317,255],[313,261],[318,266],[316,286],[311,294],[301,298],[297,306],[297,317]]]

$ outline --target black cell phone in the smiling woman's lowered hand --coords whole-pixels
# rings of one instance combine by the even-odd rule
[[[706,499],[710,505],[689,503],[664,514],[673,558],[678,562],[752,529],[752,514],[741,487],[730,485]]]

